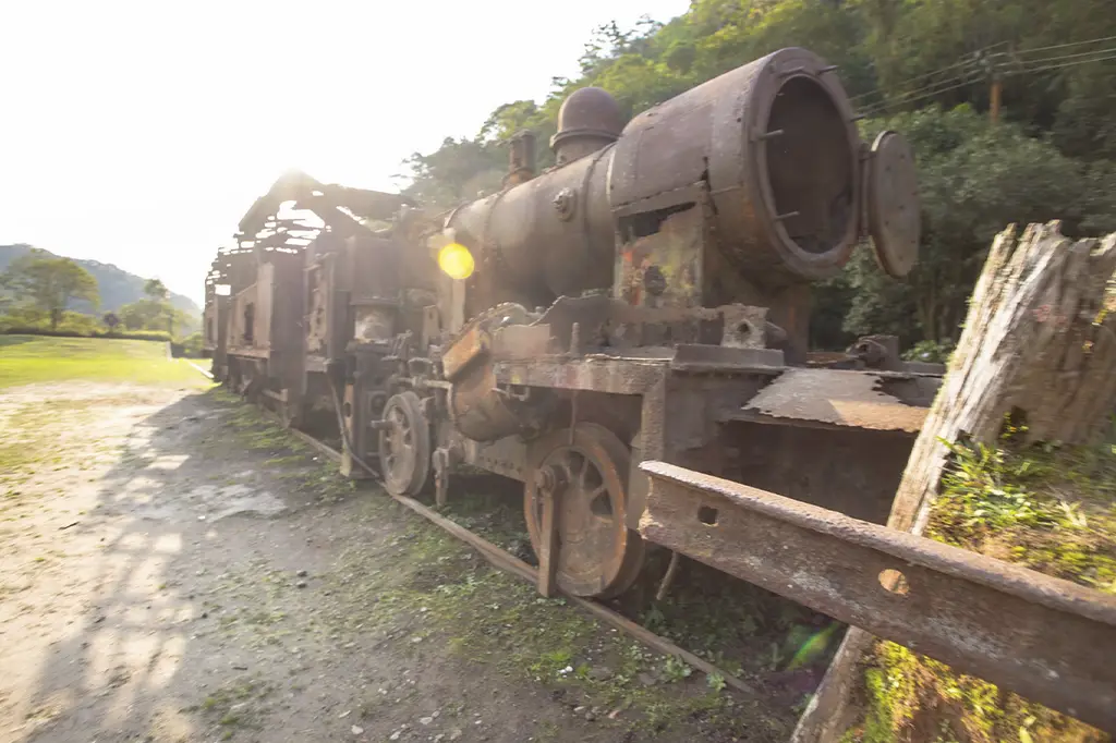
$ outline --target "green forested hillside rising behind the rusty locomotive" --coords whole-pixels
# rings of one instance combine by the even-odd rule
[[[555,78],[546,100],[509,102],[475,136],[410,158],[410,191],[452,205],[499,189],[507,139],[528,127],[547,142],[579,87],[600,86],[633,114],[788,46],[840,66],[866,136],[889,127],[911,138],[923,200],[920,266],[897,283],[858,251],[816,292],[816,344],[893,332],[907,347],[934,341],[936,353],[959,334],[984,252],[1007,223],[1116,230],[1112,0],[694,0],[665,25],[598,29],[581,75]],[[551,164],[545,146],[540,155]]]

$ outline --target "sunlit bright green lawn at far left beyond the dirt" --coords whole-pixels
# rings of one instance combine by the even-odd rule
[[[210,384],[185,359],[167,358],[163,342],[0,336],[0,388],[70,379],[151,385]]]

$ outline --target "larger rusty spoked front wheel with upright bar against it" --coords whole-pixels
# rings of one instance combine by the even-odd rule
[[[610,431],[578,424],[532,447],[533,467],[523,498],[527,531],[539,553],[542,489],[558,498],[558,586],[574,596],[613,598],[643,567],[644,542],[627,528],[627,447]]]

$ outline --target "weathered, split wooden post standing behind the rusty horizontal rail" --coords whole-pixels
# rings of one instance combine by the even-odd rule
[[[1098,433],[1116,404],[1114,279],[1116,233],[1074,241],[1051,222],[995,238],[888,527],[925,530],[946,466],[943,441],[992,444],[1012,412],[1022,413],[1029,441],[1084,443]],[[863,717],[859,663],[875,641],[849,629],[795,743],[834,743]]]

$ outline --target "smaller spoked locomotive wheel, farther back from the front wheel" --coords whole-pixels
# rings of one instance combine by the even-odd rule
[[[379,469],[384,486],[394,495],[416,495],[430,476],[430,425],[419,395],[393,395],[384,404],[379,430]]]

